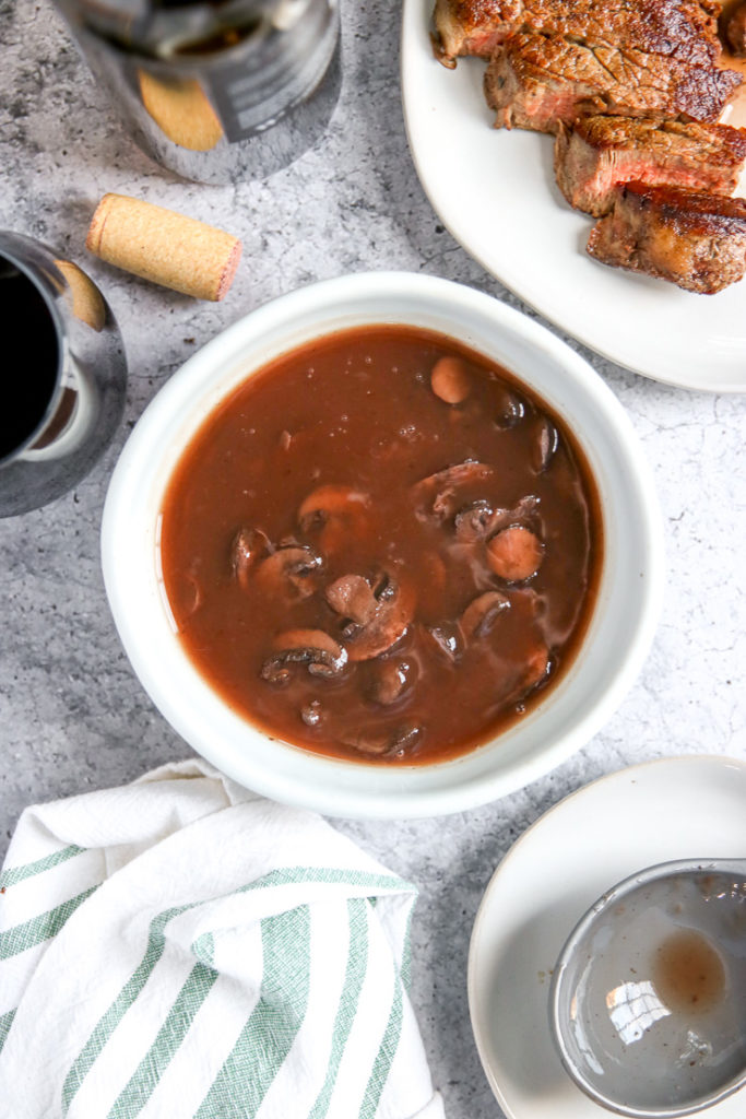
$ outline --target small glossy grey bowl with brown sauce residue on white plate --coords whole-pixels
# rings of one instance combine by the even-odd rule
[[[663,863],[608,890],[560,953],[549,1009],[566,1071],[617,1115],[677,1119],[746,1084],[746,861]]]

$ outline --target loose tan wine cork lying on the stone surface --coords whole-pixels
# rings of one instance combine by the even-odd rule
[[[86,248],[116,267],[195,299],[223,299],[240,241],[223,229],[125,195],[104,195]]]

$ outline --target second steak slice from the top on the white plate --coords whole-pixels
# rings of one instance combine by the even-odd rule
[[[495,128],[557,132],[591,113],[715,121],[742,82],[715,65],[519,32],[495,49],[484,92]]]

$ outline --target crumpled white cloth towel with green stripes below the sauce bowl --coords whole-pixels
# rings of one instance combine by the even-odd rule
[[[414,901],[197,760],[27,809],[0,875],[0,1115],[442,1119]]]

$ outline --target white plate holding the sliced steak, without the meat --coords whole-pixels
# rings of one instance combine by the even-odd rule
[[[598,354],[646,377],[746,392],[746,283],[718,295],[592,261],[592,218],[570,209],[553,173],[553,140],[491,129],[485,64],[433,57],[433,0],[404,0],[402,87],[409,147],[433,207],[501,283]]]

